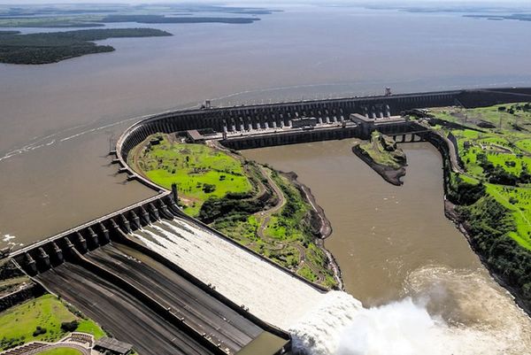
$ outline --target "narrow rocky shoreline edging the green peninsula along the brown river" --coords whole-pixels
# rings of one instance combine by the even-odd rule
[[[334,273],[334,279],[335,282],[337,282],[337,289],[344,290],[341,267],[337,263],[337,260],[335,260],[334,255],[330,251],[328,251],[325,246],[325,239],[327,239],[328,236],[332,235],[333,232],[332,223],[330,223],[330,220],[327,219],[325,210],[317,204],[316,199],[312,194],[312,189],[304,185],[304,183],[302,183],[301,181],[297,180],[298,176],[295,172],[284,173],[279,171],[279,173],[286,176],[289,181],[291,181],[296,186],[296,188],[302,192],[304,200],[312,206],[313,212],[316,213],[316,216],[319,219],[320,237],[315,238],[315,243],[319,247],[319,249],[323,251],[325,255],[327,255],[328,266],[330,267],[330,269],[332,269],[332,272]]]

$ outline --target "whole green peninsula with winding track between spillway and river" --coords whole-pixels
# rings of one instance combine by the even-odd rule
[[[179,204],[190,216],[309,281],[341,285],[323,247],[330,224],[295,174],[259,165],[218,143],[183,143],[162,134],[132,150],[128,164],[166,189],[176,183]]]

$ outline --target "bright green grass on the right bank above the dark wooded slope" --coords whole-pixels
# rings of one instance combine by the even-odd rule
[[[500,109],[500,107],[503,107]],[[466,174],[461,179],[473,184],[485,183],[487,193],[511,211],[515,230],[509,235],[531,250],[531,184],[518,186],[489,183],[479,157],[504,172],[519,176],[531,167],[531,104],[504,104],[475,109],[444,107],[431,110],[435,117],[466,125],[473,129],[449,129],[458,139],[459,157]],[[500,124],[501,118],[501,124]],[[481,121],[495,127],[479,127]]]

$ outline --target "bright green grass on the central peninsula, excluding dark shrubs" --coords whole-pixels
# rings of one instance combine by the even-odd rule
[[[264,212],[259,209],[253,212],[237,210],[212,220],[212,227],[281,266],[297,271],[308,280],[319,279],[319,283],[329,287],[335,285],[334,275],[328,269],[327,256],[313,243],[314,235],[308,218],[312,207],[286,176],[256,163],[245,163],[239,157],[205,144],[176,142],[169,135],[152,135],[146,142],[152,142],[156,137],[161,138],[160,143],[135,148],[128,164],[165,189],[171,189],[173,182],[176,183],[179,202],[186,206],[184,212],[194,217],[198,217],[209,197],[225,197],[227,193],[258,194],[260,188],[253,187],[253,184],[260,185],[261,181],[261,189],[266,189],[269,181],[263,172],[269,174],[286,201],[279,211],[268,214],[266,211],[273,205],[264,206]],[[205,191],[206,186],[211,188]],[[258,229],[265,222],[261,235]],[[301,261],[302,253],[304,263],[311,264],[311,267]],[[319,272],[320,278],[315,271]]]

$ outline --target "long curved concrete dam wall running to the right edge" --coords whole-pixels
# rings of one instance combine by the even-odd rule
[[[165,112],[154,115],[129,127],[119,138],[117,154],[126,166],[127,154],[149,135],[174,133],[191,129],[212,130],[214,132],[243,132],[250,129],[287,127],[291,120],[312,117],[319,122],[339,122],[348,119],[350,113],[366,114],[371,117],[397,115],[415,108],[428,108],[450,105],[477,107],[490,104],[531,101],[531,89],[473,89],[413,93],[393,96],[347,97],[327,100],[256,104],[249,106],[213,107],[196,110]],[[324,133],[306,131],[286,135],[286,139],[268,138],[260,143],[249,143],[249,148],[267,144],[303,143],[316,140],[341,139],[357,135],[351,128],[344,132],[339,129]],[[259,145],[262,144],[262,145]],[[238,145],[245,148],[244,144]]]

